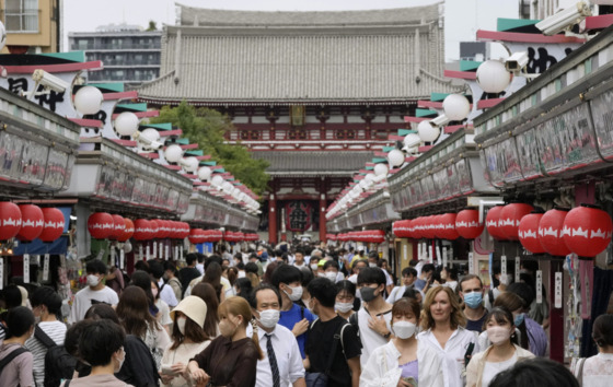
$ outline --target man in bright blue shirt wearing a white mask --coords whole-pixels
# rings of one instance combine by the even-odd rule
[[[309,336],[309,325],[315,320],[315,317],[308,308],[296,304],[302,298],[302,273],[300,269],[293,266],[281,265],[273,273],[270,283],[281,294],[279,324],[290,329],[296,336],[300,355],[304,359],[304,344]]]

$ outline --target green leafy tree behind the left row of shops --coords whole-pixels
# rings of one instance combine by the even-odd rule
[[[225,143],[224,134],[233,129],[228,116],[206,107],[195,108],[183,101],[177,107],[162,107],[160,116],[151,118],[150,122],[172,122],[183,130],[183,137],[197,143],[205,154],[210,154],[254,194],[261,195],[267,189],[269,163],[253,159],[241,144]]]

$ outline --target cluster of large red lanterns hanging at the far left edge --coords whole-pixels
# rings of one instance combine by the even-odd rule
[[[53,242],[61,236],[65,225],[63,213],[56,208],[0,202],[0,241],[16,236],[23,242]]]

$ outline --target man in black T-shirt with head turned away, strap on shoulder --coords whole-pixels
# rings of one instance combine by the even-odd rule
[[[325,373],[329,387],[358,387],[360,340],[355,328],[334,310],[336,286],[316,278],[308,286],[311,309],[320,317],[311,327],[304,364],[311,373]]]

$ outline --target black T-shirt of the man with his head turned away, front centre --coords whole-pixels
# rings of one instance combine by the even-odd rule
[[[347,359],[357,357],[362,353],[362,345],[356,329],[350,324],[343,331],[343,344],[338,341],[336,352],[331,353],[334,335],[340,333],[340,327],[345,324],[348,324],[347,320],[338,315],[325,322],[316,320],[307,341],[305,352],[311,362],[310,372],[324,373],[329,362],[328,356],[334,355],[328,374],[329,387],[351,386],[351,373],[347,365]],[[343,349],[345,349],[345,354],[343,354]]]

